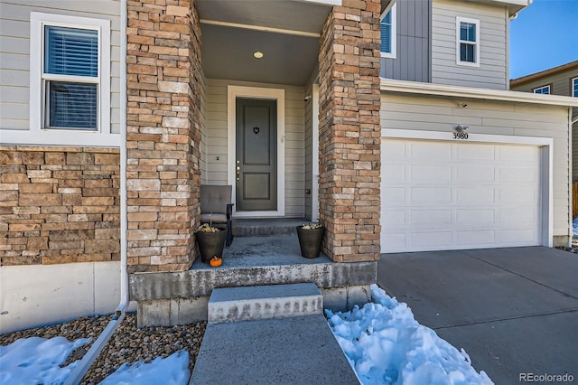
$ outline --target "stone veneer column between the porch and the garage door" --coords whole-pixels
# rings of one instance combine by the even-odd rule
[[[323,26],[320,221],[334,261],[379,258],[379,0],[343,0]]]

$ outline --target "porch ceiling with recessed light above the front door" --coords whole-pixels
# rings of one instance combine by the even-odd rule
[[[295,0],[199,0],[198,8],[206,77],[290,85],[309,80],[331,10]]]

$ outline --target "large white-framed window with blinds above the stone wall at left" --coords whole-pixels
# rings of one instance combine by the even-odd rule
[[[32,23],[31,125],[109,132],[110,22],[33,13]]]

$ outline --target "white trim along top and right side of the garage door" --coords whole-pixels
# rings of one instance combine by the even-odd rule
[[[542,245],[552,248],[554,246],[554,194],[553,194],[553,146],[554,139],[551,137],[536,136],[508,136],[508,135],[489,135],[468,133],[468,139],[454,139],[450,131],[424,131],[424,130],[406,130],[396,128],[383,128],[381,130],[382,138],[404,138],[404,139],[423,139],[423,140],[444,140],[450,142],[475,142],[475,143],[496,143],[504,145],[519,146],[539,146],[541,148],[541,214]]]

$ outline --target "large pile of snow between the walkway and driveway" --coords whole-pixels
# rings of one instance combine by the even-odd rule
[[[365,384],[493,384],[470,357],[418,324],[409,307],[371,286],[374,303],[347,313],[326,310],[331,331]]]

